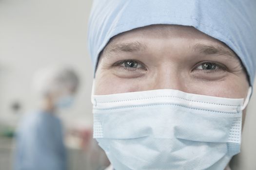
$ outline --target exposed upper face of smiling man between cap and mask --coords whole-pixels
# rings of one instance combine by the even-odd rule
[[[193,27],[154,25],[119,34],[102,51],[95,94],[153,89],[245,98],[249,84],[236,54]]]

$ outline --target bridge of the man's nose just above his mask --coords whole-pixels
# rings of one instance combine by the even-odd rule
[[[176,66],[163,66],[158,69],[154,88],[185,91],[185,82]]]

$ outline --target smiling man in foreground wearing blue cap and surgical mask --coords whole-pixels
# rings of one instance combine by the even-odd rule
[[[255,33],[255,0],[94,0],[93,136],[109,169],[229,170]]]

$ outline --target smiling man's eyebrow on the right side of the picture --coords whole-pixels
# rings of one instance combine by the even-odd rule
[[[222,45],[205,45],[198,43],[196,45],[193,45],[191,48],[193,51],[199,51],[200,53],[205,55],[217,54],[221,56],[237,58],[235,52],[230,50],[228,47]]]

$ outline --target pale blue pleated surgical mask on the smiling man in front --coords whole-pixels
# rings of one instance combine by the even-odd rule
[[[95,95],[94,138],[115,170],[223,170],[240,152],[250,94],[245,102],[172,89]]]

